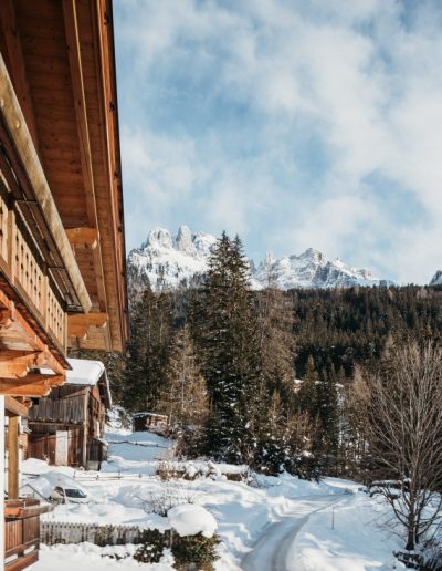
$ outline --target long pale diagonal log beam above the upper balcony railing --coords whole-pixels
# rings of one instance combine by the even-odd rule
[[[1,54],[0,114],[27,172],[33,195],[44,218],[44,224],[54,239],[56,249],[63,261],[64,268],[66,268],[75,295],[83,310],[87,312],[92,307],[90,295],[75,261],[66,232],[64,231],[59,210],[49,188],[46,177]]]

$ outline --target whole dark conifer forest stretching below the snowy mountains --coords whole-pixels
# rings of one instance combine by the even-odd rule
[[[202,284],[130,300],[127,356],[105,356],[114,397],[168,415],[182,457],[308,479],[403,476],[373,457],[370,387],[401,347],[435,350],[441,287],[253,292],[241,241],[224,233]]]

